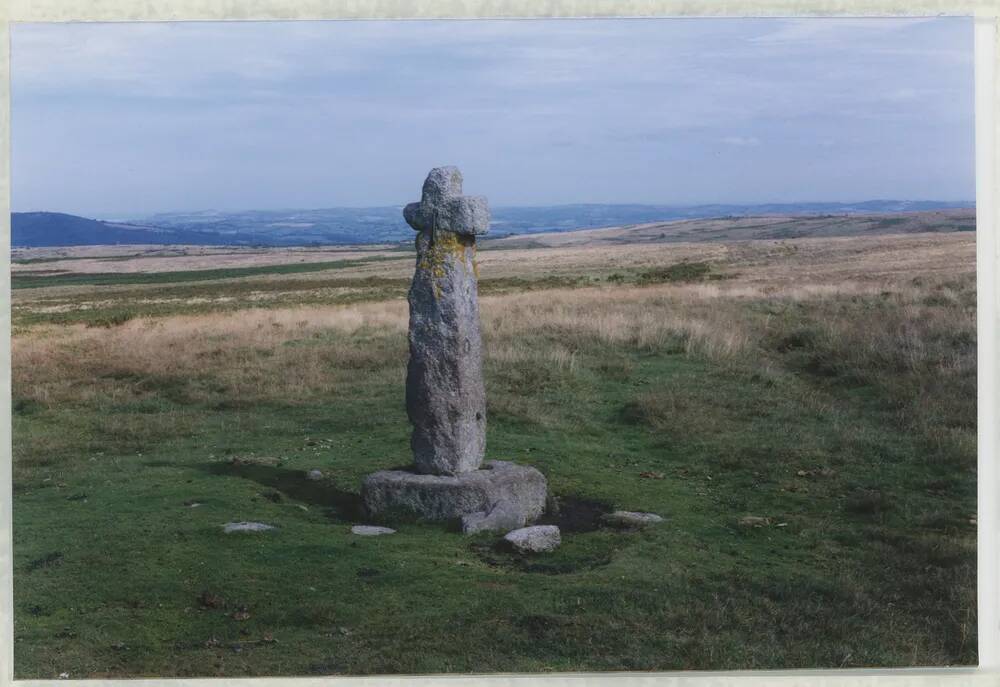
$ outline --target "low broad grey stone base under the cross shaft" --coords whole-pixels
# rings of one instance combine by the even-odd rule
[[[491,460],[461,475],[423,475],[384,470],[365,478],[361,500],[373,517],[408,516],[453,520],[489,513],[501,501],[532,522],[545,510],[545,476],[533,467]]]

